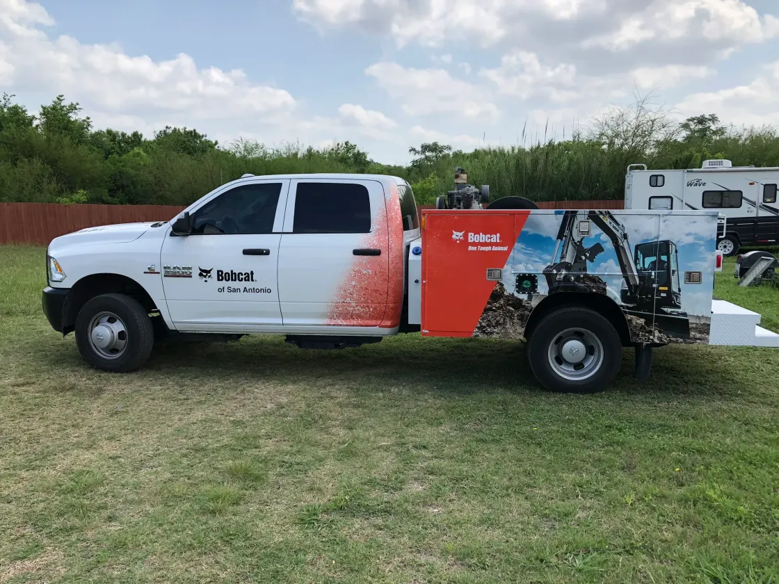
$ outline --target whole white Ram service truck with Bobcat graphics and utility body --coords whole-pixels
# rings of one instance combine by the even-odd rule
[[[760,315],[713,301],[717,213],[483,209],[469,185],[418,217],[401,178],[245,177],[171,222],[51,241],[44,312],[84,360],[141,367],[155,339],[284,334],[347,348],[398,332],[528,339],[549,389],[647,378],[670,343],[779,347]]]

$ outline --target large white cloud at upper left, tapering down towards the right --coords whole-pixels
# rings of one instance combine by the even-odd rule
[[[130,56],[120,47],[50,38],[54,21],[26,0],[0,0],[0,80],[9,90],[65,93],[90,114],[143,115],[146,121],[273,116],[290,112],[290,93],[252,83],[239,69],[201,68],[189,55],[167,61]]]

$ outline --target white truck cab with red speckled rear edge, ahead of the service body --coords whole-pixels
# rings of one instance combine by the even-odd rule
[[[419,237],[402,178],[245,175],[167,223],[57,237],[48,262],[62,272],[52,267],[44,308],[55,329],[75,330],[79,347],[110,368],[124,368],[127,331],[78,318],[102,294],[131,297],[173,334],[337,334],[359,343],[400,328],[405,260]]]

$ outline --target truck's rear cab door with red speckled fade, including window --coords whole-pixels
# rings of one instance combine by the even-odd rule
[[[285,329],[379,326],[386,311],[388,265],[379,181],[291,181],[278,270]]]

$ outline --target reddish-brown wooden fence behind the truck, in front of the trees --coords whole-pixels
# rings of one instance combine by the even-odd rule
[[[538,202],[541,209],[623,209],[622,201]],[[433,209],[420,205],[419,209]],[[184,207],[167,205],[58,205],[48,202],[0,202],[0,244],[48,245],[60,235],[85,227],[167,221]]]

